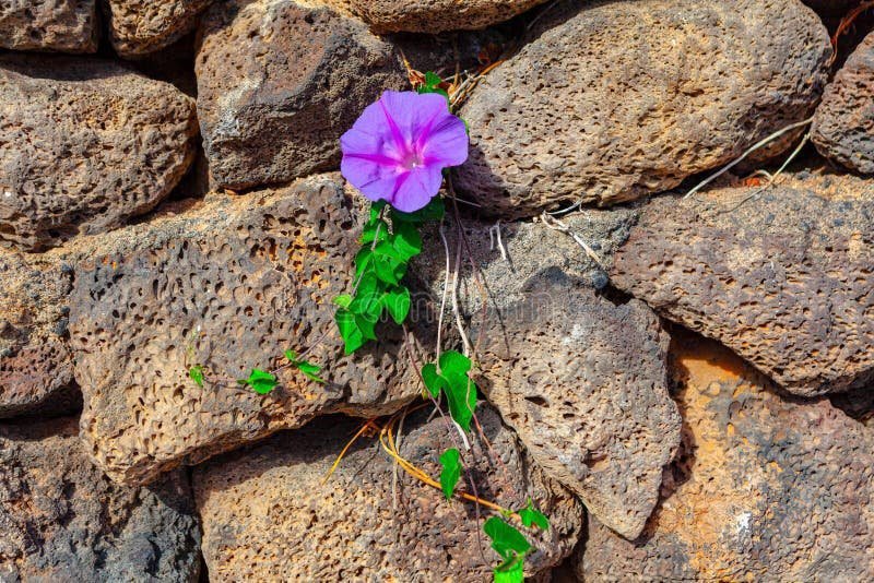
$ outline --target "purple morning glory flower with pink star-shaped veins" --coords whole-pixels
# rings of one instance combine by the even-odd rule
[[[442,169],[468,159],[464,122],[436,93],[387,91],[340,139],[343,177],[371,201],[418,211],[437,194]]]

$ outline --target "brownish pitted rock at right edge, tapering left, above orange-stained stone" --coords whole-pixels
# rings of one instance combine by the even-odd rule
[[[612,283],[792,393],[865,385],[874,379],[874,183],[790,176],[754,193],[653,199],[614,258]]]

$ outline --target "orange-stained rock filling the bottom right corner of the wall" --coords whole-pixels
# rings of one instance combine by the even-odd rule
[[[584,581],[870,581],[874,435],[780,398],[712,341],[676,352],[685,453],[628,542],[592,520]]]

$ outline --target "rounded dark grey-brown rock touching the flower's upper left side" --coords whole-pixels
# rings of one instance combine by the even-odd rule
[[[213,5],[201,26],[198,115],[217,186],[292,180],[340,162],[340,135],[383,90],[409,86],[388,43],[293,1]]]

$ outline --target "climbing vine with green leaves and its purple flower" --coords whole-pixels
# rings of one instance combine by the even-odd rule
[[[346,355],[354,355],[368,342],[378,340],[378,322],[390,319],[397,325],[405,325],[412,300],[404,277],[410,261],[422,252],[421,228],[445,219],[446,204],[439,193],[447,169],[468,157],[466,123],[453,115],[457,102],[450,97],[450,92],[458,93],[452,90],[459,87],[433,72],[414,73],[411,80],[415,92],[383,93],[341,138],[343,177],[371,201],[362,229],[361,249],[354,259],[352,288],[333,298],[334,322]],[[321,367],[305,358],[308,352],[285,350],[281,368],[296,369],[309,381],[324,383]],[[412,361],[412,353],[410,357]],[[468,433],[481,431],[475,423],[479,389],[472,378],[473,368],[469,355],[454,349],[441,352],[439,334],[434,361],[420,368],[423,398],[432,402],[440,415],[446,415],[446,407],[447,430],[460,432],[464,444],[469,441]],[[258,394],[268,394],[279,384],[275,372],[255,368],[236,382]],[[202,365],[189,369],[189,377],[200,386],[204,376]],[[435,480],[398,452],[392,435],[395,419],[390,419],[380,432],[383,449],[405,472],[438,487],[449,503],[453,499],[473,501],[477,504],[477,517],[480,505],[494,511],[482,526],[499,558],[494,580],[523,581],[524,559],[533,547],[511,524],[512,516],[524,528],[543,531],[550,528],[548,519],[531,499],[516,511],[481,499],[468,471],[472,460],[466,460],[459,448],[435,452],[441,467],[439,481]],[[472,455],[472,450],[465,450]],[[463,474],[473,495],[458,490]]]

